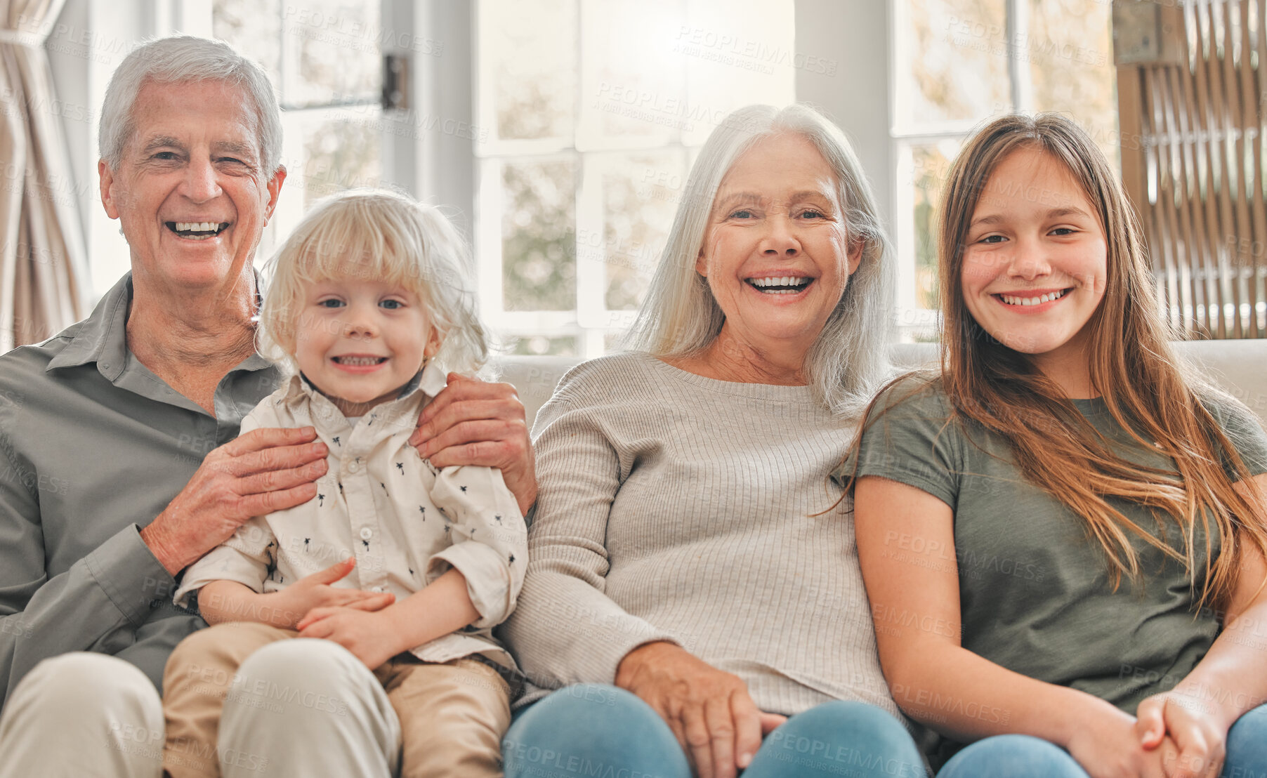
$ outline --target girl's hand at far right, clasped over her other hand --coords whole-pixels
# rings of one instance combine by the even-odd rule
[[[1167,778],[1218,778],[1223,772],[1228,727],[1216,720],[1211,705],[1173,691],[1139,703],[1135,734],[1143,746],[1152,749],[1166,739],[1177,749],[1166,760]]]

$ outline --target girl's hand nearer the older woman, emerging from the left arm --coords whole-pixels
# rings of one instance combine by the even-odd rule
[[[1078,726],[1066,750],[1091,778],[1171,778],[1178,749],[1168,737],[1145,746],[1135,717],[1104,702],[1096,715]]]

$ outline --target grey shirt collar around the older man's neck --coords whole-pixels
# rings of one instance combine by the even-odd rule
[[[260,307],[260,274],[255,274],[255,303]],[[132,271],[110,288],[92,313],[79,323],[73,340],[61,354],[48,361],[46,371],[96,362],[96,369],[110,381],[123,374],[128,362],[128,305],[132,303]],[[234,370],[264,370],[272,364],[252,354]]]

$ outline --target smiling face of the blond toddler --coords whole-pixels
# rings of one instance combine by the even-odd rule
[[[440,346],[417,295],[378,280],[312,284],[295,326],[295,361],[346,416],[394,399]]]

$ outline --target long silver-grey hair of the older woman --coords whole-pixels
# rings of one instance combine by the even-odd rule
[[[758,141],[803,136],[835,172],[845,233],[862,241],[862,260],[836,308],[806,355],[805,371],[818,398],[841,417],[856,416],[889,373],[892,340],[892,248],[881,226],[875,198],[845,134],[813,108],[793,104],[748,105],[708,136],[687,179],[668,243],[660,255],[625,345],[656,356],[683,356],[706,348],[726,317],[708,281],[696,272],[713,199],[735,161]]]

